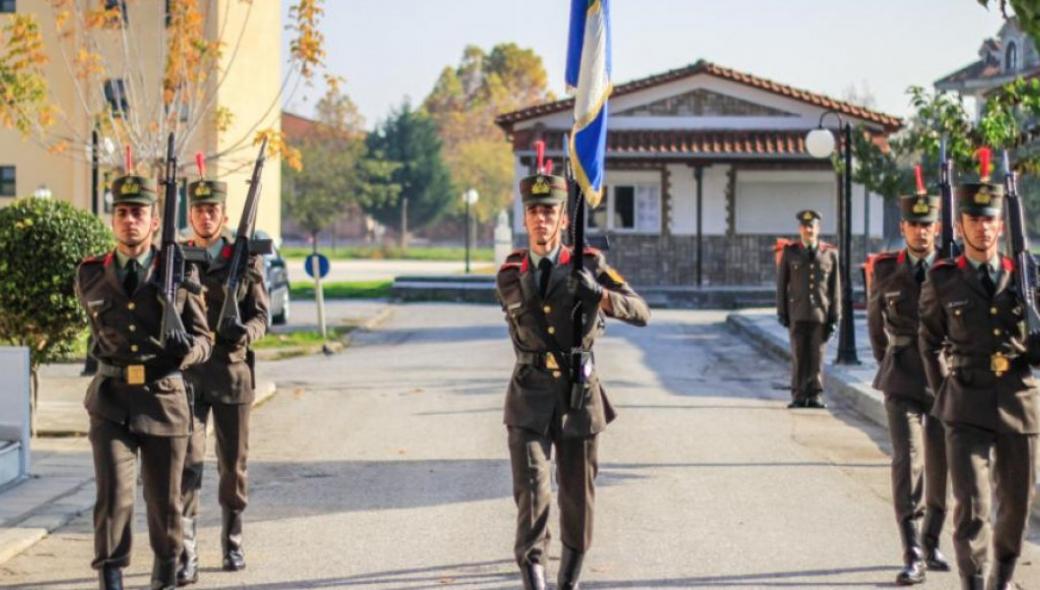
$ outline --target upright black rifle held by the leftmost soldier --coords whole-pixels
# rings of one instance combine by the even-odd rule
[[[185,252],[177,242],[177,210],[179,191],[177,186],[177,152],[174,134],[166,142],[166,163],[162,185],[162,241],[159,246],[159,303],[162,305],[162,323],[159,328],[159,347],[165,348],[166,335],[173,331],[184,332],[184,323],[177,312],[177,290],[181,287],[201,293],[202,285],[185,280]],[[192,258],[194,256],[192,255]]]

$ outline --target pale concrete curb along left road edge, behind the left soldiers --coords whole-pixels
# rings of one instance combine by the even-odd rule
[[[253,409],[270,401],[277,392],[278,387],[274,381],[258,383]],[[207,427],[207,435],[212,434],[212,432],[213,422],[210,421]],[[64,436],[79,436],[79,433],[66,433]],[[0,564],[46,539],[48,535],[83,513],[93,510],[94,503],[94,478],[87,478],[72,485],[64,492],[41,503],[23,516],[3,523],[0,527]]]

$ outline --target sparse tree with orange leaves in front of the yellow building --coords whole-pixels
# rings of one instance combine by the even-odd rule
[[[217,95],[228,70],[235,68],[242,40],[250,34],[254,1],[168,0],[165,26],[135,19],[146,2],[160,4],[153,0],[46,0],[38,14],[11,15],[0,27],[0,124],[51,153],[85,159],[82,150],[70,148],[89,143],[93,122],[103,136],[130,146],[144,166],[162,160],[165,137],[173,132],[181,161],[189,161],[183,152],[200,133],[213,128],[229,132],[235,121],[233,106],[218,104]],[[233,3],[244,9],[240,28],[229,27],[227,19],[215,26],[218,7],[227,11]],[[289,63],[279,91],[269,97],[270,106],[256,122],[244,122],[248,130],[224,142],[219,152],[206,154],[207,159],[233,157],[236,165],[248,164],[252,146],[266,136],[271,155],[301,166],[300,152],[279,131],[262,125],[323,65],[324,39],[318,30],[322,3],[293,2],[287,26],[293,35]],[[53,46],[45,44],[41,21],[55,28]],[[142,58],[156,50],[158,61]],[[45,67],[52,61],[62,63],[72,78],[72,101],[62,102],[50,92]],[[119,83],[113,84],[113,79]],[[123,108],[126,104],[133,107]],[[81,123],[84,117],[86,126]],[[122,168],[122,150],[99,152],[102,165]]]

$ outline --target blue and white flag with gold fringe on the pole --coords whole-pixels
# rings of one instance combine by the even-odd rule
[[[610,83],[609,0],[571,0],[567,44],[567,87],[574,96],[571,166],[591,207],[603,194],[606,158],[606,100]]]

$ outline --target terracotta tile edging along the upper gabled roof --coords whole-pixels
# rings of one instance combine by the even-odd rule
[[[626,82],[624,84],[615,86],[614,94],[612,96],[618,97],[634,93],[636,91],[641,91],[651,86],[657,86],[660,84],[666,84],[668,82],[672,82],[697,74],[709,74],[719,78],[732,80],[734,82],[738,82],[752,87],[771,92],[780,96],[806,102],[815,106],[820,106],[822,108],[833,109],[843,114],[877,123],[885,127],[886,130],[889,131],[894,131],[903,126],[903,121],[898,117],[866,109],[846,101],[832,99],[830,97],[821,94],[796,88],[792,86],[788,86],[786,84],[775,82],[773,80],[768,80],[765,78],[759,78],[758,76],[753,76],[751,74],[738,72],[730,68],[723,68],[722,66],[717,66],[714,63],[705,61],[703,59],[697,61],[692,66],[686,66],[684,68],[679,68],[676,70],[670,70],[661,74],[655,74],[653,76],[640,78],[638,80],[632,80],[630,82]],[[495,123],[497,123],[500,127],[509,131],[514,123],[520,121],[526,121],[529,119],[535,119],[543,114],[562,112],[571,108],[574,108],[573,98],[564,99],[550,103],[538,104],[528,108],[523,108],[513,112],[506,112],[498,116],[495,119]]]

